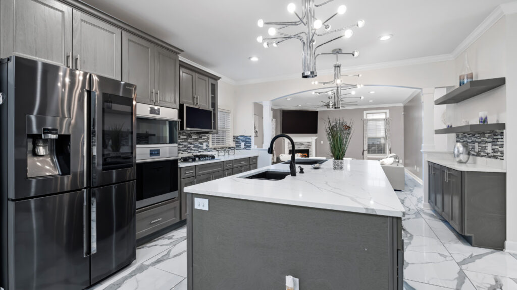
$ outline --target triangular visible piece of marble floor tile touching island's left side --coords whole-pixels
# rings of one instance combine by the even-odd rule
[[[155,268],[174,273],[181,277],[187,277],[187,241],[184,240],[178,245],[154,256],[144,264]]]

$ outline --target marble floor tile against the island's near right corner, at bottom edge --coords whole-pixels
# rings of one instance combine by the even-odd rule
[[[413,236],[404,243],[405,279],[458,290],[475,289],[437,238]]]

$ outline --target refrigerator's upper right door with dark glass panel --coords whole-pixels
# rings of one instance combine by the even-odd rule
[[[92,186],[134,180],[136,86],[90,75],[90,161]]]

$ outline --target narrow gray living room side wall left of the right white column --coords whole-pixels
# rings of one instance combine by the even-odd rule
[[[404,105],[404,166],[422,179],[422,101],[420,94]],[[415,170],[417,166],[418,170]]]

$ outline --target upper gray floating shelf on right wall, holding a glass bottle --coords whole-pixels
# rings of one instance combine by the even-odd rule
[[[472,80],[434,101],[435,105],[457,104],[506,84],[505,77]]]

